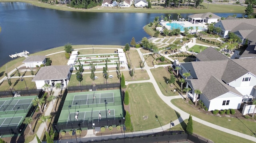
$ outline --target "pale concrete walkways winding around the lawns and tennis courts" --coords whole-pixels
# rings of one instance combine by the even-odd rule
[[[192,45],[195,44],[195,39],[193,39],[193,42],[190,43],[188,46],[192,47]],[[199,45],[199,44],[198,44]],[[207,45],[206,45],[207,46]],[[85,48],[86,49],[86,48]],[[96,48],[94,48],[96,49]],[[131,50],[137,50],[139,55],[140,55],[140,58],[143,58],[142,57],[142,53],[140,51],[140,48],[139,49],[131,49]],[[184,49],[183,49],[184,50]],[[60,53],[60,52],[58,52]],[[52,53],[54,54],[54,53]],[[150,53],[148,53],[150,54]],[[145,55],[145,54],[144,54]],[[144,58],[143,58],[143,61],[144,61]],[[167,66],[167,65],[166,65]],[[24,64],[23,65],[20,65],[19,67],[17,68],[20,68],[20,67],[24,67]],[[170,100],[172,99],[176,99],[176,98],[183,98],[182,95],[179,95],[179,96],[164,96],[160,90],[160,88],[158,87],[157,83],[156,83],[156,80],[154,79],[154,76],[152,75],[150,69],[152,69],[154,67],[148,67],[148,65],[146,64],[145,62],[145,67],[144,67],[144,70],[147,71],[149,77],[150,77],[150,80],[141,80],[141,81],[132,81],[132,82],[128,82],[128,84],[132,84],[132,83],[143,83],[143,82],[151,82],[156,90],[156,92],[158,93],[158,96],[168,105],[170,106],[172,109],[176,110],[176,112],[178,112],[180,114],[180,118],[176,119],[175,121],[173,121],[173,123],[175,125],[178,125],[179,123],[181,123],[182,121],[184,121],[185,119],[188,119],[189,117],[189,114],[184,112],[183,110],[180,110],[178,107],[174,106]],[[123,69],[122,71],[125,71],[125,70],[128,70],[128,68],[125,68]],[[141,69],[140,69],[141,70]],[[13,72],[15,72],[16,69],[12,70],[11,72],[8,73],[8,75],[10,76]],[[87,72],[85,72],[87,73]],[[27,76],[24,76],[24,77],[27,77]],[[28,76],[30,77],[30,76]],[[12,78],[17,78],[17,77],[12,77]],[[0,79],[0,81],[3,81],[5,80],[6,77]],[[56,90],[56,89],[53,89],[54,90],[54,96],[58,96],[58,93],[59,93],[59,90]],[[52,112],[52,104],[48,104],[48,107],[46,108],[46,111],[45,111],[45,115],[50,115],[50,113]],[[224,131],[226,133],[230,133],[232,135],[236,135],[238,137],[242,137],[244,139],[248,139],[250,141],[254,141],[256,142],[256,138],[255,137],[252,137],[250,135],[246,135],[246,134],[243,134],[243,133],[239,133],[238,131],[233,131],[233,130],[230,130],[230,129],[227,129],[227,128],[224,128],[224,127],[221,127],[219,125],[215,125],[213,123],[210,123],[210,122],[207,122],[207,121],[204,121],[202,119],[199,119],[199,118],[196,118],[193,116],[193,120],[194,121],[197,121],[199,123],[202,123],[203,125],[206,125],[208,127],[212,127],[214,129],[218,129],[220,131]],[[44,133],[44,128],[45,128],[45,124],[42,123],[38,129],[38,131],[36,132],[36,134],[38,135],[38,137],[41,137],[42,134]],[[137,135],[140,135],[140,134],[151,134],[151,133],[156,133],[156,132],[160,132],[162,131],[162,129],[169,129],[170,128],[170,123],[166,124],[166,125],[163,125],[162,127],[158,127],[158,128],[155,128],[155,129],[150,129],[150,130],[146,130],[146,131],[136,131],[136,132],[129,132],[129,133],[126,133],[126,137],[131,137],[131,136],[134,136],[135,134]],[[113,138],[114,136],[116,137],[123,137],[123,134],[117,134],[117,135],[111,135],[111,138]],[[110,136],[100,136],[100,137],[96,137],[94,134],[93,134],[93,131],[92,130],[89,130],[88,131],[88,134],[84,137],[84,138],[81,138],[79,139],[80,141],[84,140],[90,140],[90,139],[104,139],[104,138],[107,138],[107,137],[110,137]],[[30,143],[37,143],[36,141],[36,138],[34,138],[33,141],[31,141]]]

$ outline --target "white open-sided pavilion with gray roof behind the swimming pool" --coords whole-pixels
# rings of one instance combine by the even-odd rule
[[[212,17],[209,17],[209,16]],[[213,14],[211,12],[206,12],[204,14],[192,14],[190,16],[188,16],[188,21],[191,19],[192,23],[196,23],[196,22],[202,22],[202,23],[207,23],[207,24],[212,24],[212,23],[216,23],[218,22],[218,20],[220,19],[220,16],[217,16],[216,14]]]

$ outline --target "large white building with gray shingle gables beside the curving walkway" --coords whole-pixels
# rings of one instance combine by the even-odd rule
[[[238,109],[256,97],[256,67],[250,64],[256,58],[229,59],[212,47],[196,57],[195,62],[180,64],[179,72],[190,72],[186,87],[192,89],[188,95],[193,102],[197,100],[194,90],[202,92],[199,99],[208,110]]]

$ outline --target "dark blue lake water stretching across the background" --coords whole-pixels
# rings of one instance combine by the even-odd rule
[[[168,14],[65,12],[23,2],[0,2],[0,66],[9,55],[72,45],[125,45],[149,35],[143,26]],[[187,18],[191,14],[181,14]],[[219,13],[227,17],[233,13]],[[243,14],[237,14],[242,17]],[[172,14],[171,19],[177,19]]]

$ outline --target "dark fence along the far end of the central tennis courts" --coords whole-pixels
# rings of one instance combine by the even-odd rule
[[[95,84],[95,86],[92,86],[92,84],[88,85],[82,85],[82,86],[68,86],[68,92],[82,92],[82,91],[95,91],[95,90],[112,90],[112,89],[119,89],[120,83],[108,83],[108,84]]]

